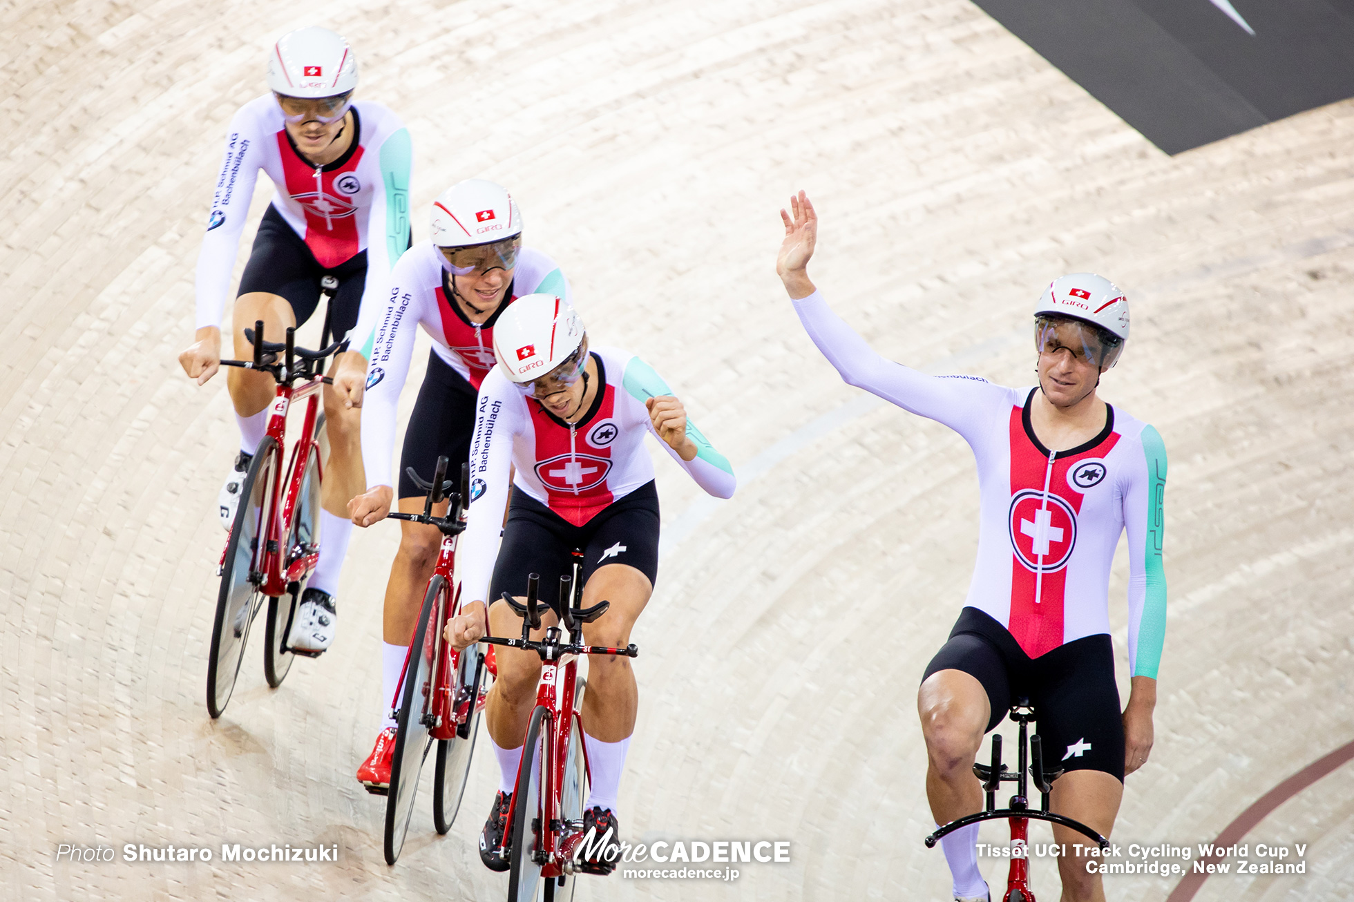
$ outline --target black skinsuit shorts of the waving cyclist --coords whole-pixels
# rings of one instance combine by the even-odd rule
[[[1029,699],[1047,769],[1104,771],[1124,781],[1124,722],[1109,635],[1082,637],[1030,658],[1006,627],[965,607],[922,680],[937,670],[963,670],[983,684],[992,706],[988,731],[1017,699]]]

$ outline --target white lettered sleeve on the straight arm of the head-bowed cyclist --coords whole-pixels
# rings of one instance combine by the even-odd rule
[[[513,439],[524,428],[521,395],[497,370],[485,377],[475,401],[470,442],[470,509],[456,547],[456,577],[466,601],[485,601],[498,557],[498,536],[510,490]]]

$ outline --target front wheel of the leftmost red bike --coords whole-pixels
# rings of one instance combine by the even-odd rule
[[[217,619],[207,657],[207,711],[219,718],[230,702],[240,674],[240,661],[249,639],[249,624],[263,604],[259,572],[263,532],[268,525],[272,484],[278,478],[278,443],[265,437],[240,488],[240,508],[230,525],[226,559],[221,567]]]

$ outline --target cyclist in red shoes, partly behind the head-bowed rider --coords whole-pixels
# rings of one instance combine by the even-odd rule
[[[569,298],[563,272],[540,251],[521,246],[521,229],[517,203],[501,186],[483,179],[460,181],[433,203],[432,238],[399,259],[385,298],[363,306],[353,332],[353,347],[362,356],[351,355],[336,377],[336,381],[343,378],[348,391],[345,402],[363,408],[367,490],[349,504],[357,525],[385,517],[397,488],[401,511],[422,511],[425,493],[406,475],[406,467],[431,479],[437,456],[445,454],[451,458],[450,473],[459,477],[475,429],[475,391],[494,366],[498,317],[519,294],[548,291]],[[420,325],[432,336],[433,345],[405,429],[399,477],[393,481],[395,406]],[[366,368],[364,358],[371,359]],[[399,551],[386,584],[382,726],[371,754],[357,768],[357,780],[371,790],[390,786],[395,752],[390,703],[441,544],[436,527],[408,521],[399,525]]]

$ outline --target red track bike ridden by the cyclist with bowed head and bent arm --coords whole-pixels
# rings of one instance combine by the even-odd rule
[[[559,627],[546,630],[544,641],[531,638],[540,628],[540,615],[550,609],[536,601],[540,577],[527,578],[527,603],[504,592],[504,600],[523,618],[520,639],[485,637],[485,642],[525,649],[540,656],[540,684],[536,707],[527,726],[517,783],[508,807],[504,849],[508,860],[508,902],[552,901],[573,897],[566,876],[578,869],[577,855],[584,844],[584,800],[588,798],[588,753],[582,737],[582,699],[586,683],[578,680],[580,654],[624,654],[635,657],[634,643],[624,649],[582,645],[582,624],[592,623],[611,607],[600,601],[578,607],[582,551],[575,550],[573,576],[559,577],[561,620],[571,642],[561,642]],[[596,840],[600,840],[597,837]],[[590,840],[590,841],[596,841]]]

